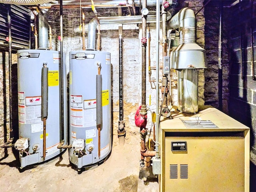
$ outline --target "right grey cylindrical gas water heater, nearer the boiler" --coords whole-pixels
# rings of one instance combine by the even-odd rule
[[[102,119],[102,125],[98,124],[99,119]],[[72,51],[70,162],[78,169],[101,162],[111,152],[111,136],[110,53],[94,50]]]

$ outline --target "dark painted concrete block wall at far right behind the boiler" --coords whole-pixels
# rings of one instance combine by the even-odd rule
[[[252,76],[253,64],[254,70],[256,69],[256,2],[243,0],[232,6],[226,22],[228,21],[229,114],[251,128],[252,152],[256,154],[256,80]],[[252,40],[253,46],[251,46]],[[251,160],[256,164],[256,158],[252,157]]]

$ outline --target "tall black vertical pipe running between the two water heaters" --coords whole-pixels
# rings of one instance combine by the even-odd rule
[[[63,88],[63,23],[62,23],[62,0],[60,0],[60,138],[64,140],[64,88]]]

